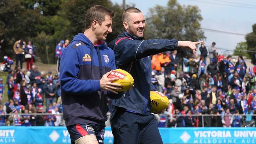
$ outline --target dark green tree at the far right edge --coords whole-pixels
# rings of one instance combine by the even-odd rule
[[[247,53],[254,64],[256,63],[256,24],[252,25],[252,32],[247,34],[245,39],[248,46],[247,50],[249,50]]]

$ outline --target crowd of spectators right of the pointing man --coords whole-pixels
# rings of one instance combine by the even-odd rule
[[[152,84],[170,103],[168,118],[158,117],[159,127],[241,127],[254,122],[255,116],[241,114],[256,114],[256,64],[247,68],[242,56],[219,55],[215,42],[209,51],[202,44],[200,51],[200,56],[182,49],[152,56]],[[202,114],[210,114],[204,124]]]

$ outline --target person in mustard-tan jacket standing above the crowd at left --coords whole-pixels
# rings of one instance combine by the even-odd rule
[[[16,41],[13,45],[13,51],[16,55],[16,67],[19,64],[20,61],[20,69],[22,69],[22,63],[23,63],[23,52],[26,47],[26,42],[23,39],[20,39],[19,41]]]

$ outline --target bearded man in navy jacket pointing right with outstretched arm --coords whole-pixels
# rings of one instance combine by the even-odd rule
[[[149,93],[156,90],[151,84],[150,55],[178,50],[179,47],[191,48],[195,52],[195,44],[201,42],[143,40],[145,18],[134,7],[124,11],[122,21],[125,31],[109,47],[115,53],[117,68],[126,70],[133,76],[134,87],[121,98],[113,100],[110,122],[114,144],[162,144],[150,107]]]

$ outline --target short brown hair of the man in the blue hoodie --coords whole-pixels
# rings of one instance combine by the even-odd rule
[[[100,25],[105,20],[105,16],[115,17],[114,11],[108,9],[107,7],[96,5],[91,7],[85,16],[85,29],[91,28],[91,24],[96,20]]]

